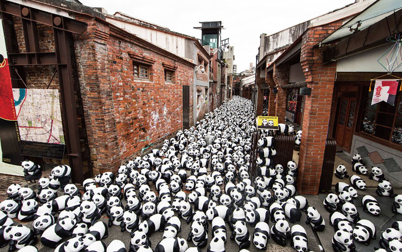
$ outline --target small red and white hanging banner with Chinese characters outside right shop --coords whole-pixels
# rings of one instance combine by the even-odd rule
[[[399,80],[375,80],[372,105],[384,101],[394,106],[398,83]]]

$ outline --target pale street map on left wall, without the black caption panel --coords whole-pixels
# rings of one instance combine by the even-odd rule
[[[57,89],[13,88],[21,140],[64,144]]]

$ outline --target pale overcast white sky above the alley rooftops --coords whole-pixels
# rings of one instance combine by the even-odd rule
[[[272,34],[354,0],[80,0],[109,14],[127,13],[173,31],[201,38],[200,21],[222,21],[222,39],[234,46],[237,72],[255,65],[259,34]]]

